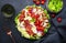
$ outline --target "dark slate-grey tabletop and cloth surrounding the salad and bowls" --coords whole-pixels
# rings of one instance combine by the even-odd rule
[[[48,33],[37,41],[30,41],[20,35],[14,24],[14,17],[26,6],[34,4],[32,0],[0,0],[0,43],[12,43],[12,40],[6,32],[2,30],[3,25],[10,28],[12,35],[14,36],[15,43],[66,43],[66,0],[64,1],[64,8],[61,13],[58,13],[54,19],[51,18],[52,26],[48,30]],[[7,20],[2,13],[1,8],[10,3],[15,9],[15,14],[12,19]],[[42,6],[45,8],[45,4]],[[61,17],[63,20],[61,23],[56,19]]]

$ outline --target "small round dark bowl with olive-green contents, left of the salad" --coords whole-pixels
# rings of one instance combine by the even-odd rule
[[[1,12],[4,18],[11,18],[15,11],[11,4],[7,3],[1,8]]]

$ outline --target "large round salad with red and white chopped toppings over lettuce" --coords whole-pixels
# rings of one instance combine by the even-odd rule
[[[22,36],[38,40],[45,35],[50,24],[50,15],[45,9],[37,6],[28,6],[14,19]]]

